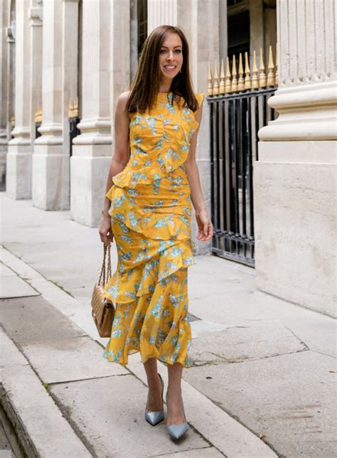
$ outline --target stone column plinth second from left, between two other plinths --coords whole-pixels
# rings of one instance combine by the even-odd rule
[[[63,145],[34,145],[33,206],[69,210],[69,168],[69,156],[63,153]]]

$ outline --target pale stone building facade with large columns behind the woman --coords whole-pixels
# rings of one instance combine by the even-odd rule
[[[163,23],[183,28],[194,89],[205,95],[210,60],[245,46],[267,55],[277,42],[279,87],[269,104],[279,117],[260,129],[254,164],[257,283],[336,314],[334,0],[3,0],[0,17],[6,194],[70,210],[90,227],[100,222],[115,103],[146,33]],[[198,166],[210,205],[203,107]]]

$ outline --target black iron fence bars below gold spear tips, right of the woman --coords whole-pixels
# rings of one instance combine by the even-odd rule
[[[255,264],[253,164],[257,131],[274,119],[277,88],[213,95],[210,105],[211,211],[215,255]]]

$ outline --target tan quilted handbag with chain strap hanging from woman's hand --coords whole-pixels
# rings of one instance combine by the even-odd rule
[[[97,331],[98,334],[100,334],[100,337],[111,336],[112,321],[114,321],[114,304],[109,299],[107,299],[107,297],[103,297],[102,295],[103,289],[107,284],[109,277],[111,277],[110,245],[110,242],[108,242],[107,245],[103,243],[104,256],[102,269],[100,273],[100,278],[98,279],[98,282],[95,283],[91,299],[92,318],[95,321]]]

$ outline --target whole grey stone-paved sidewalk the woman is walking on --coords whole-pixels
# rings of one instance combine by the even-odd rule
[[[32,456],[336,455],[334,319],[258,292],[249,267],[196,257],[194,366],[183,371],[190,430],[173,442],[165,422],[144,421],[139,353],[127,369],[102,357],[107,339],[90,315],[97,228],[0,198],[1,397]],[[166,380],[161,363],[159,371]]]

